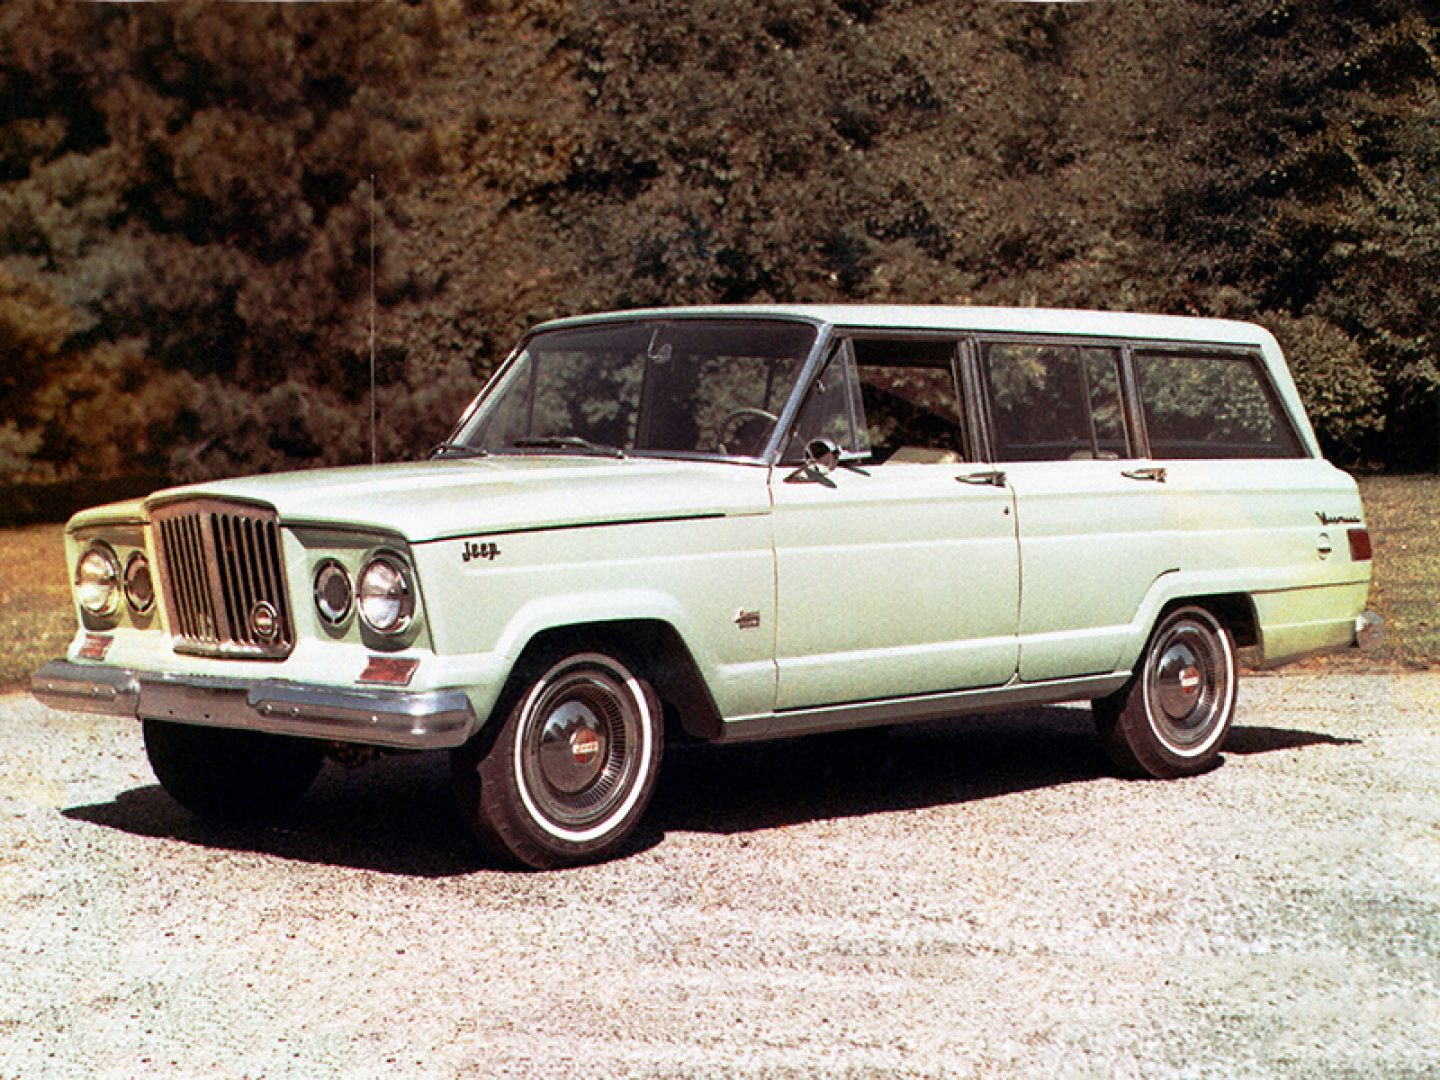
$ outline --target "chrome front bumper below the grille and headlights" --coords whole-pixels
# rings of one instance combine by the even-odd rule
[[[35,672],[30,693],[53,708],[410,750],[459,746],[475,730],[461,690],[350,690],[52,660]]]

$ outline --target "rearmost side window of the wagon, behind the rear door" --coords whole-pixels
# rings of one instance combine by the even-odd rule
[[[1155,458],[1303,458],[1257,357],[1136,353]]]

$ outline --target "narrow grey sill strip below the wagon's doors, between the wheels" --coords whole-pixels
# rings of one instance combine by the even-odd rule
[[[897,697],[884,701],[860,701],[818,708],[786,708],[778,713],[742,716],[726,720],[720,743],[743,743],[759,739],[786,739],[795,734],[847,732],[878,724],[904,724],[920,720],[946,720],[968,713],[991,713],[1024,706],[1057,704],[1060,701],[1089,701],[1113,694],[1130,678],[1129,671],[1084,678],[1051,680],[1048,683],[1011,683],[985,690],[960,690],[949,694]]]

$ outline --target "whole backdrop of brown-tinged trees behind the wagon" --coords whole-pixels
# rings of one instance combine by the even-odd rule
[[[458,4],[459,0],[455,0]],[[1326,449],[1440,462],[1426,0],[0,9],[0,471],[442,438],[636,304],[1251,318]]]

